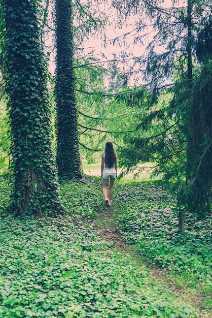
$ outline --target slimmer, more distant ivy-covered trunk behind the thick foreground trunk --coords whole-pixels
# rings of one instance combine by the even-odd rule
[[[73,16],[70,0],[56,6],[57,166],[62,180],[82,178],[73,77]]]

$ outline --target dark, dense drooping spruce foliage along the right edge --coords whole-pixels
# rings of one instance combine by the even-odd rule
[[[202,63],[201,74],[189,105],[187,174],[185,204],[200,216],[210,211],[212,185],[212,23],[209,20],[197,37],[196,53]]]

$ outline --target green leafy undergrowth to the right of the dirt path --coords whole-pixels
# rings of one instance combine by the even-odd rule
[[[181,275],[182,284],[210,296],[211,216],[200,220],[187,213],[185,233],[179,233],[176,200],[168,190],[158,182],[117,186],[117,228],[143,260]]]

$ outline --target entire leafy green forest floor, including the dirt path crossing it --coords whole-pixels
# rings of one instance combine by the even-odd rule
[[[110,208],[99,177],[60,195],[63,217],[0,214],[0,318],[212,317],[211,221],[188,215],[180,235],[160,182],[116,180]]]

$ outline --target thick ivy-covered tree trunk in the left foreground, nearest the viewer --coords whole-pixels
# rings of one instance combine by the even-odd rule
[[[4,0],[14,187],[9,212],[62,213],[53,166],[44,54],[33,0]]]

